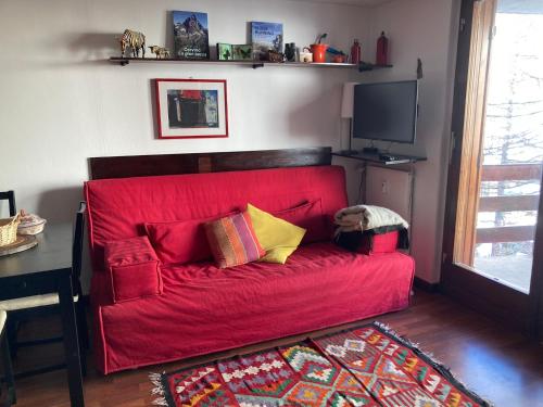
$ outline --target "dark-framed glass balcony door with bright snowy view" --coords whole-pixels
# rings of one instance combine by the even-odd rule
[[[541,285],[543,2],[463,0],[459,27],[441,285],[533,330]]]

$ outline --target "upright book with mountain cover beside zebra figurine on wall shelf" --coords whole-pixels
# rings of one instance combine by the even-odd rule
[[[207,13],[174,11],[172,16],[174,23],[174,58],[180,60],[209,60]]]

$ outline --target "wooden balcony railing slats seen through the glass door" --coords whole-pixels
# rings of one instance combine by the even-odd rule
[[[483,165],[483,181],[540,181],[542,164]],[[539,195],[481,196],[478,212],[538,211]],[[533,240],[535,226],[478,228],[477,243],[523,242]]]

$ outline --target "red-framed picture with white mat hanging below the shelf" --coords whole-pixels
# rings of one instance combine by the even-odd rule
[[[224,79],[155,79],[160,139],[228,137]]]

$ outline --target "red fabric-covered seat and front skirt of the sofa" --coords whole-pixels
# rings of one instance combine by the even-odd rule
[[[301,246],[286,265],[166,267],[164,293],[97,308],[104,373],[187,358],[405,308],[414,262],[332,243]],[[93,288],[101,283],[93,276]],[[101,296],[94,291],[96,298]],[[142,349],[146,349],[142,352]]]

